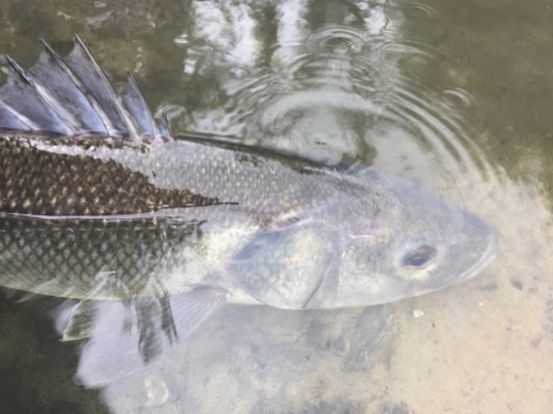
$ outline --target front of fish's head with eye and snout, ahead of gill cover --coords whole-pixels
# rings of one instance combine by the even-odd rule
[[[398,178],[364,179],[365,195],[336,212],[345,242],[325,307],[419,296],[474,277],[498,257],[495,230],[474,214]]]

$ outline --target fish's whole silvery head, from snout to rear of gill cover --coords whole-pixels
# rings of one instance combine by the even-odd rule
[[[259,232],[227,270],[262,304],[338,308],[438,290],[476,276],[498,254],[495,231],[478,216],[366,170],[340,177],[335,191]]]

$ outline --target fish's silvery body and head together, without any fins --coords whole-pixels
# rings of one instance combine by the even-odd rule
[[[480,219],[369,169],[341,171],[207,140],[139,149],[4,137],[2,150],[4,185],[35,182],[43,194],[34,197],[31,184],[4,190],[11,198],[0,219],[0,283],[10,288],[121,300],[155,280],[168,293],[217,285],[231,301],[280,308],[365,306],[466,279],[497,255],[497,236]],[[28,166],[44,155],[49,164]],[[72,176],[73,159],[113,167]],[[43,179],[60,166],[65,187]],[[96,187],[114,187],[124,176],[195,194],[206,205],[80,214],[75,200],[87,203],[91,193],[107,192]],[[105,201],[115,210],[149,197],[119,185],[109,195],[115,201]],[[32,214],[38,200],[60,215]],[[76,214],[66,214],[72,209]],[[406,263],[413,255],[426,262]]]

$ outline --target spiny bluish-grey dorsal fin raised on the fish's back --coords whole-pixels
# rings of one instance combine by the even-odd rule
[[[79,36],[65,57],[42,44],[29,71],[8,56],[11,67],[0,87],[0,134],[173,139],[166,119],[156,125],[131,72],[119,95]]]

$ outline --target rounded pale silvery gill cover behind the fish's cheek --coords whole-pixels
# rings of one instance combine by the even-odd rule
[[[267,231],[227,264],[250,296],[284,309],[314,307],[326,300],[340,265],[340,235],[325,223],[296,223]]]

